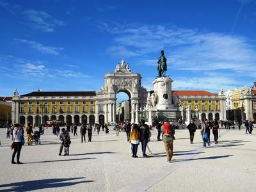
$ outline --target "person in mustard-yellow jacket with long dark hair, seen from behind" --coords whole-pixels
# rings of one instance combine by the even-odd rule
[[[140,129],[137,124],[132,126],[129,142],[132,145],[132,157],[138,158],[138,145],[140,145]]]

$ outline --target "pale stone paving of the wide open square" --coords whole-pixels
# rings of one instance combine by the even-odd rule
[[[125,132],[116,136],[93,131],[92,143],[72,136],[70,156],[58,156],[60,141],[45,131],[41,145],[22,147],[11,164],[12,141],[0,129],[0,191],[255,191],[256,134],[221,129],[218,145],[202,147],[200,131],[194,144],[188,130],[176,130],[172,163],[166,163],[156,129],[148,143],[153,154],[133,159]],[[86,135],[87,136],[87,135]],[[86,137],[86,141],[88,138]],[[212,134],[211,134],[211,140]]]

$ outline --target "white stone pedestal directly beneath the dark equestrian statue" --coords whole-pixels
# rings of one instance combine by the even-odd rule
[[[172,82],[170,77],[159,77],[153,81],[154,93],[157,95],[156,110],[175,109],[172,104]]]

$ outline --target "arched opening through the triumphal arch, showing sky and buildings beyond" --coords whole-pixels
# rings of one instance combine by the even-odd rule
[[[116,122],[131,122],[131,93],[120,90],[116,93]]]

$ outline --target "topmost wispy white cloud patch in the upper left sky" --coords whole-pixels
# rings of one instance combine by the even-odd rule
[[[65,25],[62,20],[53,19],[52,16],[46,12],[26,10],[23,14],[26,20],[28,20],[28,26],[32,29],[42,30],[44,32],[53,32],[55,27]]]

